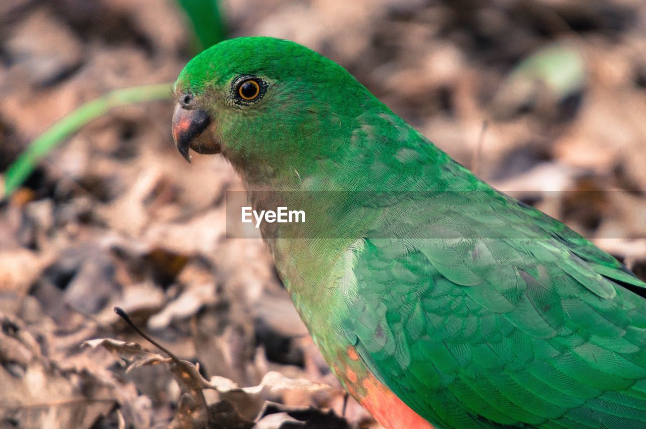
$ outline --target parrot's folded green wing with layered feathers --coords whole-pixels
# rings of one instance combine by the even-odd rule
[[[567,227],[545,235],[555,220],[511,207],[494,207],[506,222],[495,238],[476,234],[494,229],[476,214],[432,224],[413,209],[398,230],[421,225],[424,238],[368,234],[358,316],[344,322],[359,355],[439,427],[643,428],[646,300],[623,284],[645,285]]]

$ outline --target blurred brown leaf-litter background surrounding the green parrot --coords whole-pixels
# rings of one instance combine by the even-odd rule
[[[646,275],[643,0],[5,0],[3,183],[83,103],[170,88],[203,47],[250,35],[337,61],[486,181]],[[219,157],[178,154],[166,87],[50,136],[0,202],[0,428],[164,428],[186,411],[167,365],[126,373],[81,347],[152,350],[114,306],[207,379],[255,386],[278,371],[331,386],[209,392],[209,428],[378,428],[353,401],[346,419],[328,413],[344,394],[264,244],[225,238],[238,178]],[[266,399],[282,405],[261,411]]]

